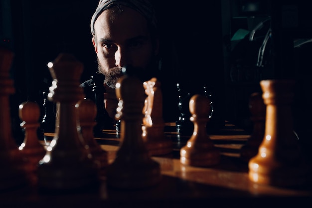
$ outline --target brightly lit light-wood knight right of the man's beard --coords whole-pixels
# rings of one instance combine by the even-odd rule
[[[145,81],[143,86],[147,94],[143,110],[143,140],[151,156],[169,154],[172,152],[172,141],[164,135],[160,82],[154,77]]]

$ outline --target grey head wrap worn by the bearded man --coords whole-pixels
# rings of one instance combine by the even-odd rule
[[[99,15],[106,9],[115,5],[123,5],[130,7],[141,13],[156,28],[156,15],[152,3],[149,0],[100,0],[91,18],[91,33],[94,36],[94,23]]]

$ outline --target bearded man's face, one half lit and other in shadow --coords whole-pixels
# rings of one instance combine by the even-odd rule
[[[157,47],[153,47],[147,20],[131,8],[113,7],[103,11],[94,29],[92,42],[99,72],[105,75],[104,82],[111,88],[115,88],[122,67],[131,65],[144,70],[156,55]]]

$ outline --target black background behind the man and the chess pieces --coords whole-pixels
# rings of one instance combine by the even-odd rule
[[[41,104],[51,84],[47,63],[61,52],[84,64],[81,81],[96,71],[90,19],[98,0],[1,0],[1,45],[14,52],[11,77],[12,123],[19,125],[18,105]],[[176,83],[184,92],[212,93],[216,115],[251,131],[248,99],[261,92],[261,79],[296,79],[294,128],[311,144],[311,44],[294,48],[294,40],[312,38],[312,12],[305,0],[154,0],[163,53],[164,107],[167,121],[179,116]],[[257,41],[231,41],[239,29],[251,31],[270,17],[272,37],[265,64],[256,67],[259,47],[269,27],[256,33]],[[259,73],[261,71],[262,73]],[[170,114],[170,115],[169,115]]]

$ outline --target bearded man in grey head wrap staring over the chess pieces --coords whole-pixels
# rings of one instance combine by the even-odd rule
[[[100,0],[91,19],[91,33],[98,73],[105,76],[105,109],[115,119],[115,85],[122,67],[139,69],[142,81],[158,74],[159,38],[153,5],[148,0]],[[90,85],[88,80],[81,86],[86,92]]]

